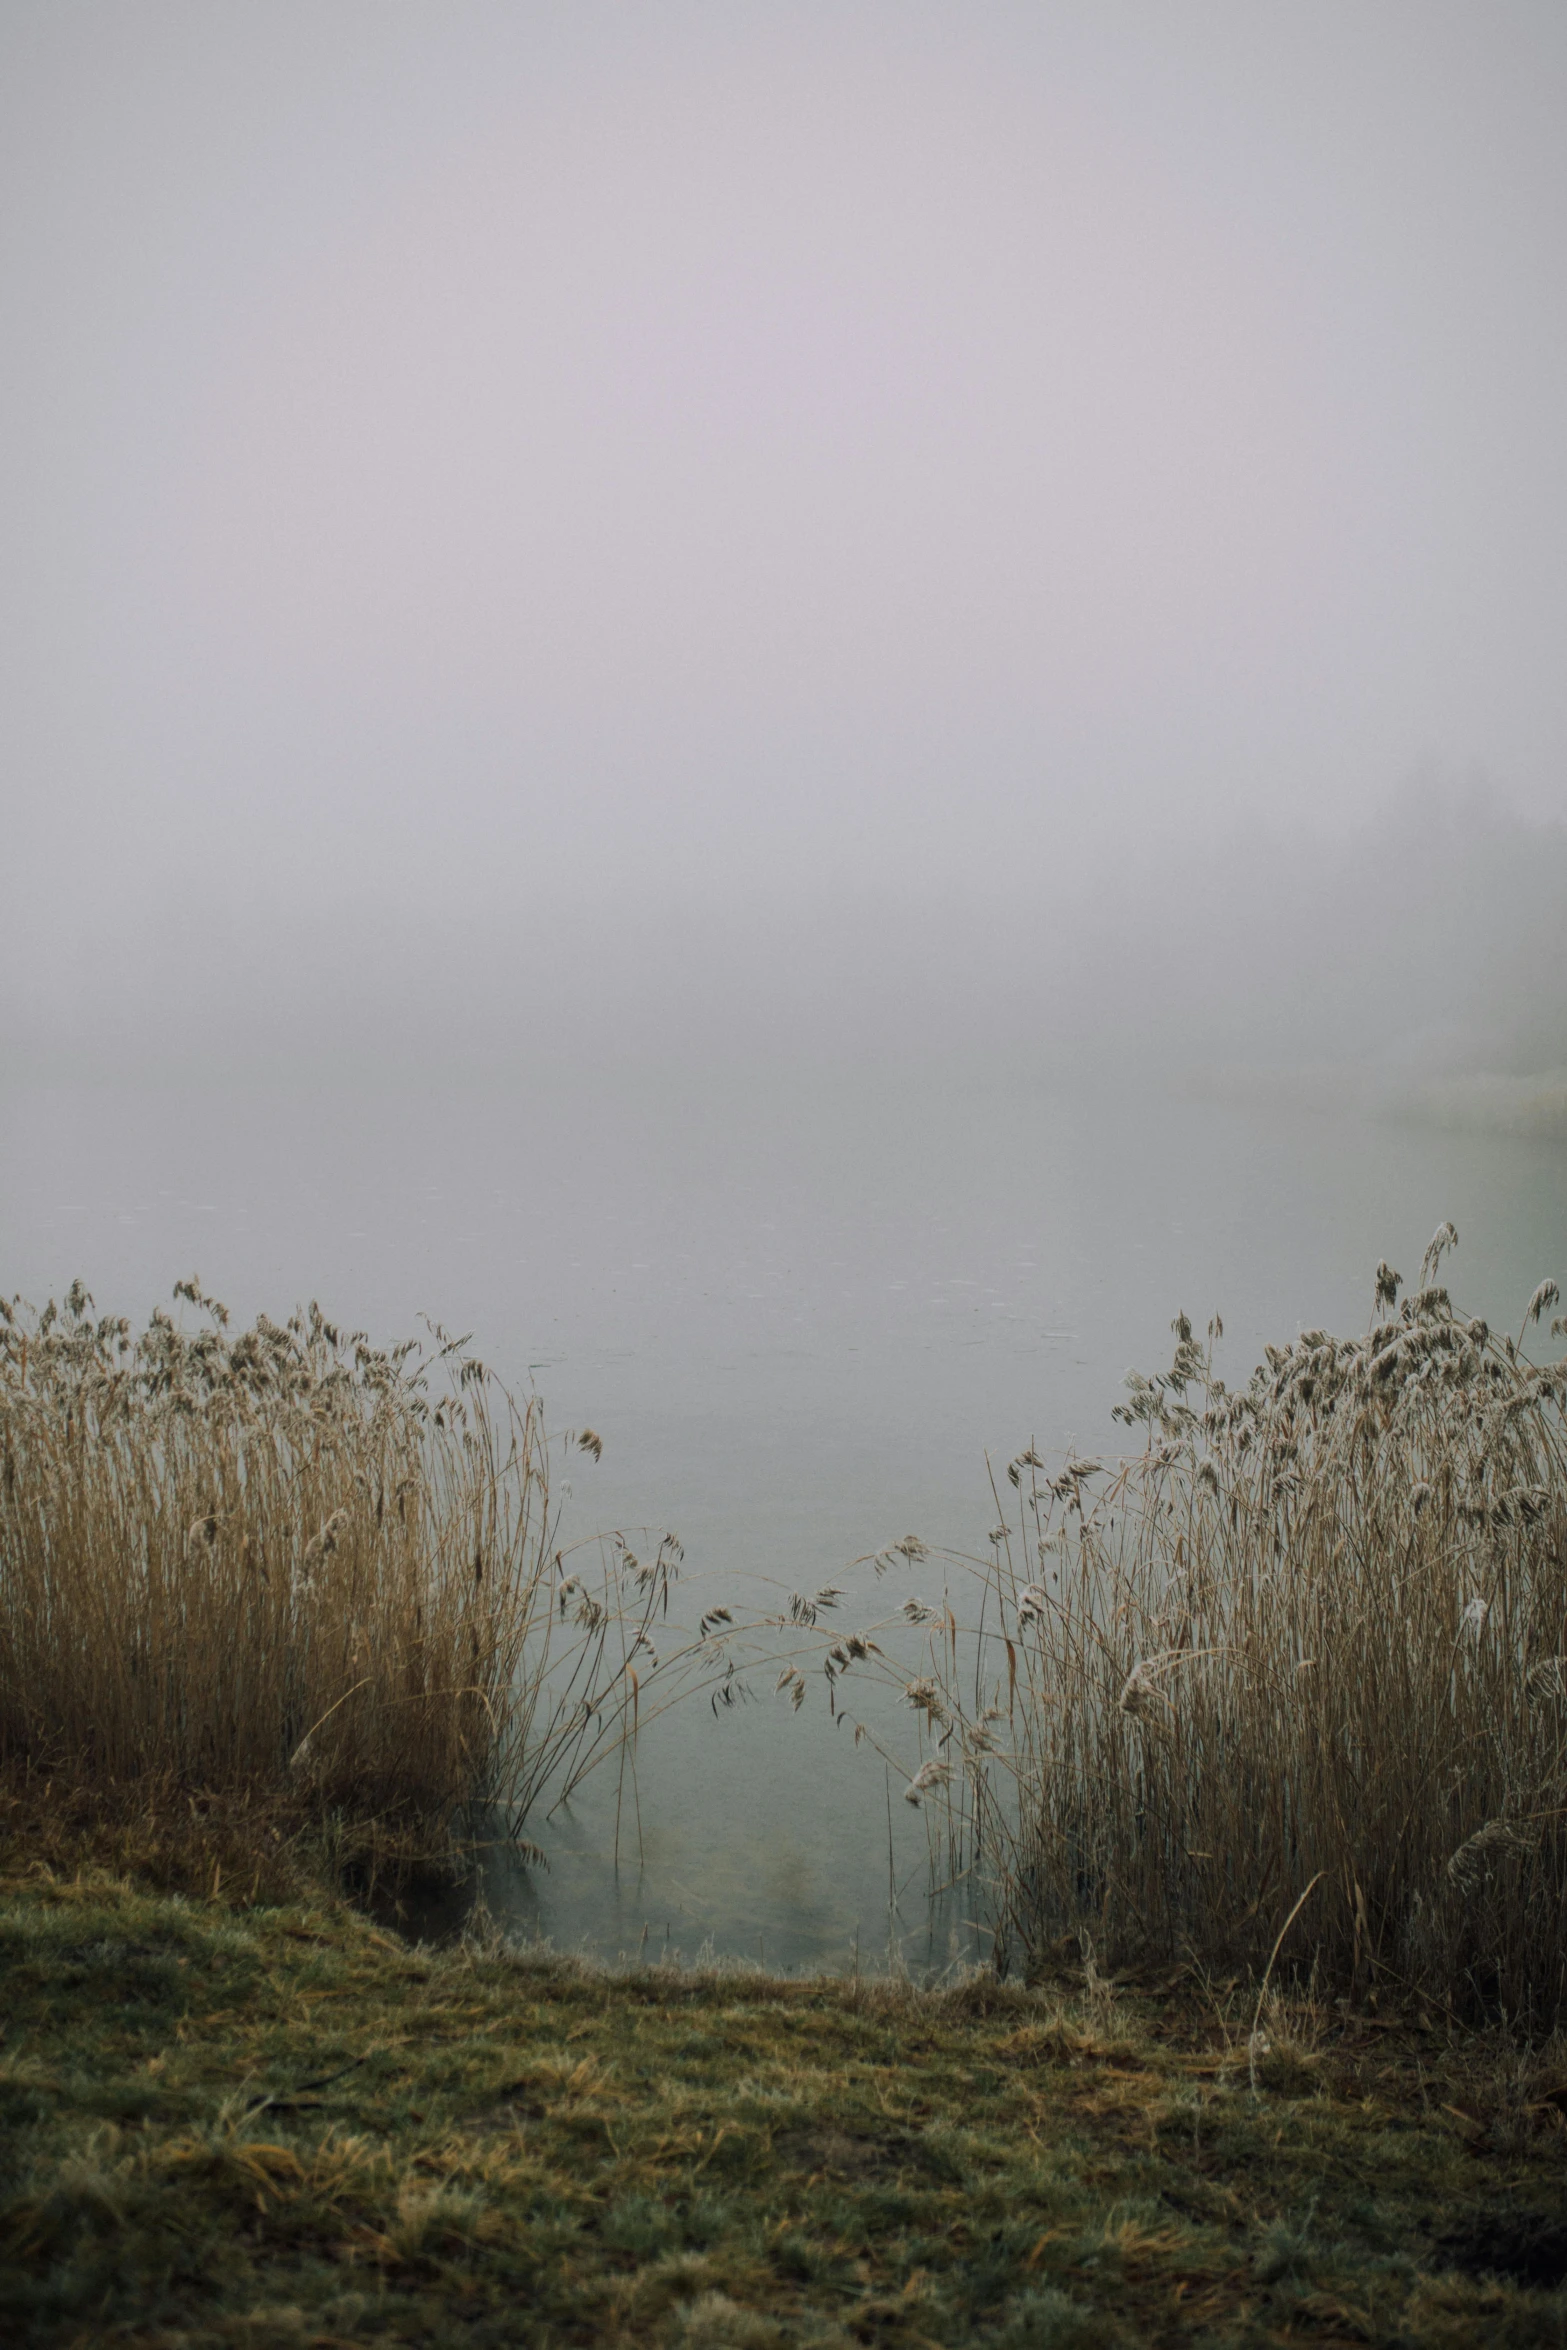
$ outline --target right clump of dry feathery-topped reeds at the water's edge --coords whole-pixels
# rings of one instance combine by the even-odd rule
[[[1567,1363],[1525,1351],[1558,1292],[1499,1335],[1440,1285],[1454,1241],[1233,1391],[1177,1318],[1135,1457],[996,1480],[977,1631],[926,1607],[904,1697],[1003,1965],[1076,1934],[1562,2021]]]

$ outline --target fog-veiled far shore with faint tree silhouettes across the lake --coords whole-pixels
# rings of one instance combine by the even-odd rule
[[[1043,825],[980,888],[681,886],[308,912],[244,874],[0,954],[14,1083],[458,1083],[919,1097],[1135,1086],[1433,1128],[1567,1126],[1567,825],[1426,773],[1346,832]]]

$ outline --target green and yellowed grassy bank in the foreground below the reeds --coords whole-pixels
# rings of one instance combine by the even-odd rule
[[[1567,2338],[1567,2070],[1414,2019],[613,1979],[19,1845],[0,2009],[7,2341]]]

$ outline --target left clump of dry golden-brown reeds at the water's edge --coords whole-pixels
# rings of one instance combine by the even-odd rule
[[[202,1325],[139,1337],[80,1283],[0,1302],[0,1765],[444,1849],[465,1805],[519,1831],[625,1753],[679,1544],[566,1570],[538,1398],[435,1325],[230,1337],[176,1297]]]

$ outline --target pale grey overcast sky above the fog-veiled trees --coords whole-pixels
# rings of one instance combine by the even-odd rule
[[[1567,813],[1565,125],[1555,0],[5,0],[12,985]]]

